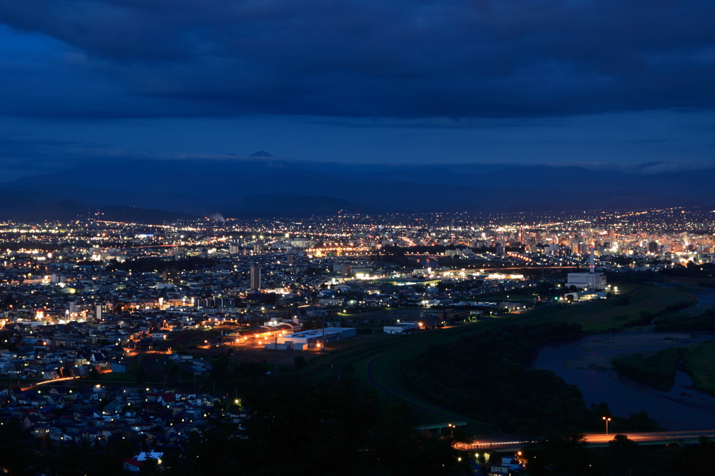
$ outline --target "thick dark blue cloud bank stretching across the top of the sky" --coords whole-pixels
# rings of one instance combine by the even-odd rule
[[[0,112],[529,117],[715,106],[711,0],[0,0],[69,45]]]

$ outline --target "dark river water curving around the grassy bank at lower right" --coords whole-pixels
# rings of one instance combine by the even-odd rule
[[[596,334],[541,347],[532,367],[553,370],[564,381],[578,385],[588,406],[606,402],[621,417],[644,410],[668,430],[710,430],[715,428],[715,398],[697,392],[689,375],[677,372],[674,387],[661,392],[616,374],[608,362],[620,354],[652,354],[714,339],[713,334],[649,330]]]

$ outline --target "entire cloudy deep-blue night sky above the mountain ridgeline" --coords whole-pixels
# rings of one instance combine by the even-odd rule
[[[0,181],[134,157],[715,165],[712,0],[0,0]]]

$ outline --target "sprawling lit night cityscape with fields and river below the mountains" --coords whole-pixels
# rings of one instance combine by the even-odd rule
[[[611,453],[623,441],[642,452],[636,467],[658,458],[679,472],[691,463],[678,451],[711,455],[715,212],[131,221],[139,212],[151,211],[0,220],[10,474],[46,474],[58,460],[117,475],[151,464],[169,476],[259,475],[284,461],[311,472],[305,455],[320,437],[305,430],[336,412],[325,405],[345,405],[345,420],[330,420],[340,430],[366,425],[346,432],[358,450],[332,462],[337,473],[359,457],[398,475],[408,441],[408,460],[451,467],[445,476],[531,472],[538,461],[523,455],[541,446],[524,434],[548,448],[549,432],[587,432],[573,442],[585,464],[628,462]],[[352,392],[330,398],[333,386]],[[363,398],[378,407],[356,410]],[[385,450],[373,442],[383,418],[390,439],[402,427],[389,458],[372,455]],[[263,425],[303,449],[257,456],[280,441]],[[215,445],[221,455],[192,466]]]

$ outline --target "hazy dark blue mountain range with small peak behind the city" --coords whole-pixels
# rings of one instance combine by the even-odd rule
[[[0,219],[170,222],[380,212],[510,212],[715,204],[715,169],[663,174],[583,167],[396,166],[136,160],[0,184]],[[161,212],[164,210],[164,212]],[[111,218],[114,217],[114,218]]]

